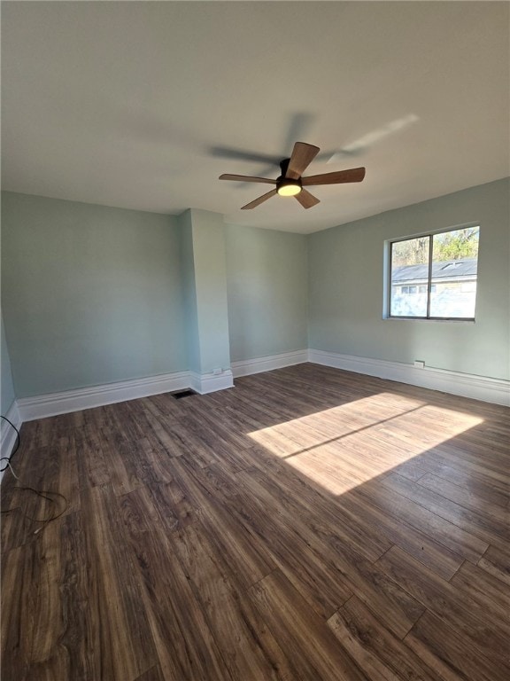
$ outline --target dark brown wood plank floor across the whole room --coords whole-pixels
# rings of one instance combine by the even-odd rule
[[[509,415],[301,364],[24,424],[2,679],[509,678]]]

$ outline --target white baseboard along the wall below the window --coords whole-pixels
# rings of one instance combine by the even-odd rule
[[[452,395],[510,406],[510,381],[508,380],[429,367],[417,369],[413,364],[339,355],[335,352],[314,349],[308,350],[308,361],[313,364],[344,369],[348,372],[366,373],[380,379],[398,380],[401,383],[410,383],[412,386],[429,387],[432,390],[440,390]]]

